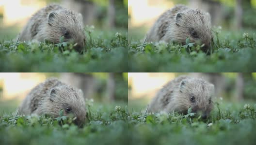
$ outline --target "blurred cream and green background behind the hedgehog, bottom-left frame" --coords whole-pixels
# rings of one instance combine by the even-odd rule
[[[14,112],[31,89],[49,77],[82,89],[96,108],[128,103],[128,73],[0,73],[0,112]]]

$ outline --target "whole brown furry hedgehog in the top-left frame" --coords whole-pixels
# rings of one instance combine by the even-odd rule
[[[21,41],[44,41],[60,43],[60,37],[68,32],[65,42],[78,43],[76,50],[81,51],[85,36],[82,15],[65,9],[57,4],[48,5],[35,13],[20,33]]]

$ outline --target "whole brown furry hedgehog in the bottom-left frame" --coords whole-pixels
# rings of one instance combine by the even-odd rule
[[[68,113],[66,108],[72,110]],[[64,116],[73,113],[75,123],[85,121],[86,111],[83,93],[80,89],[67,86],[56,78],[51,78],[34,87],[19,106],[19,115],[43,115],[58,117],[63,109]]]

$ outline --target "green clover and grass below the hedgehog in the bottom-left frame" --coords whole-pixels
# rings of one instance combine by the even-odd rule
[[[115,109],[116,105],[121,109]],[[0,145],[121,145],[128,142],[127,103],[95,103],[88,105],[87,110],[83,128],[64,116],[53,119],[1,112]]]

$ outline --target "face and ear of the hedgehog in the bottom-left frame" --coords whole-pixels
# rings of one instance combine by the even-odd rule
[[[50,91],[50,105],[48,112],[52,116],[59,116],[59,112],[64,110],[64,116],[76,117],[74,123],[82,126],[86,119],[85,102],[81,90],[71,87],[55,87]]]

